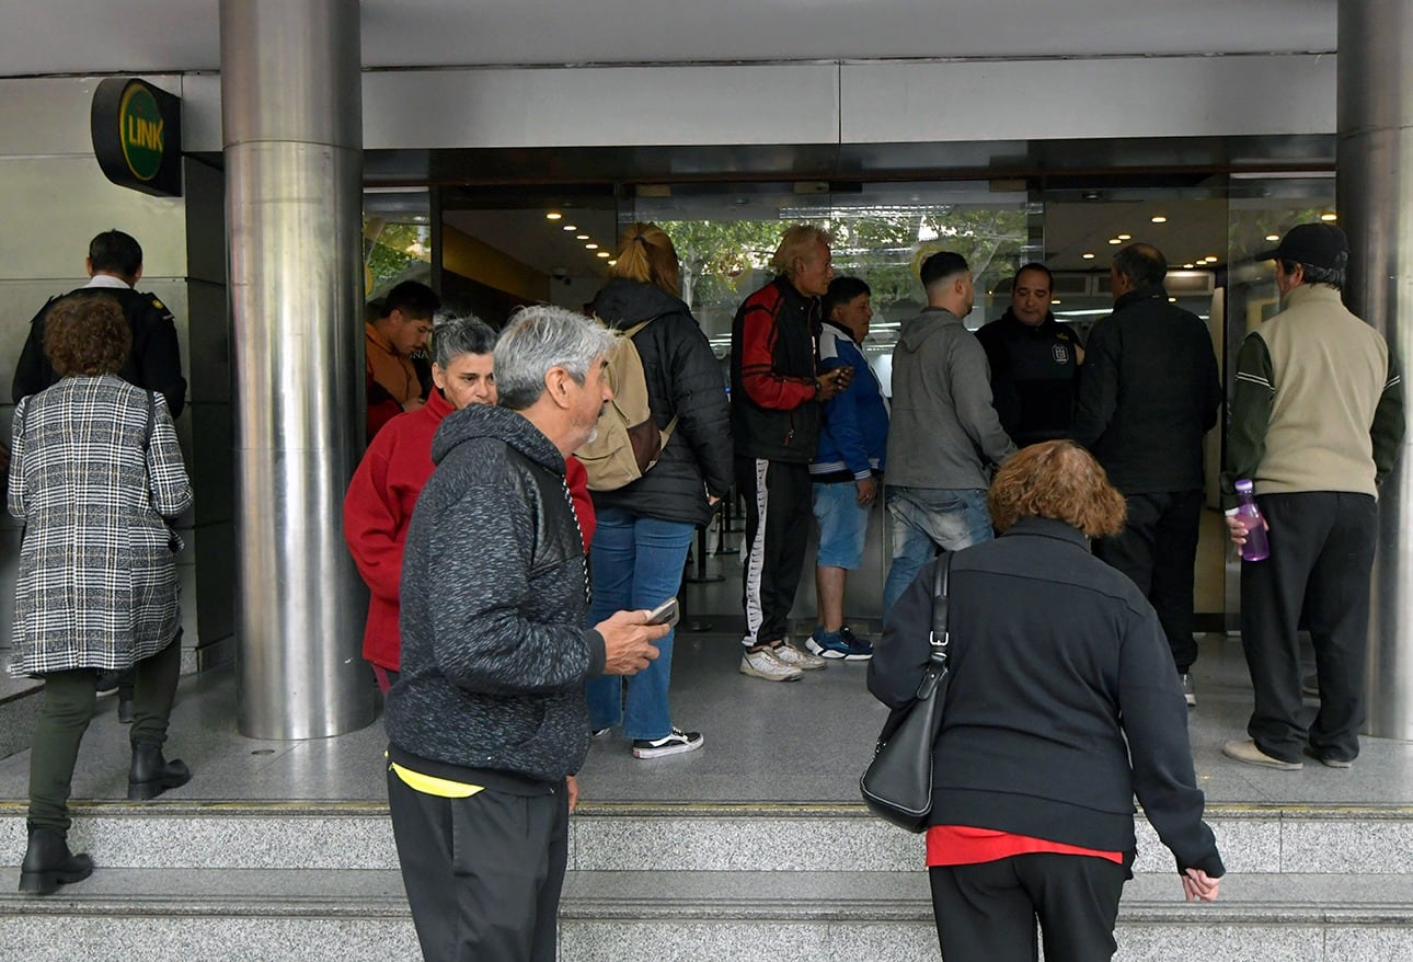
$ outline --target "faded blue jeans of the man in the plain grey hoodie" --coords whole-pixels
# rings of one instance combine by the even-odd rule
[[[883,617],[937,551],[961,551],[991,541],[991,510],[979,487],[903,487],[883,490],[893,531],[893,564],[883,583]]]

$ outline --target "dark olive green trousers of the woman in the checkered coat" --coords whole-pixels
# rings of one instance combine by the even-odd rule
[[[30,743],[30,828],[69,831],[69,791],[79,742],[93,719],[97,694],[93,668],[55,671],[44,675],[44,708]],[[133,692],[133,744],[167,742],[167,722],[177,698],[181,675],[181,634],[172,643],[137,663]],[[124,761],[131,756],[123,753]]]

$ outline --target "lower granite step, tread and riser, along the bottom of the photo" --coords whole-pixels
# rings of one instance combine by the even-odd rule
[[[0,870],[4,958],[417,959],[394,870],[107,869],[55,896]],[[893,872],[571,872],[562,962],[935,962],[927,877]],[[1241,876],[1190,905],[1173,873],[1125,889],[1121,962],[1413,958],[1413,877]]]

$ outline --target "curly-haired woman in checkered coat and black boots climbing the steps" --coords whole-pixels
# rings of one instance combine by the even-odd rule
[[[96,672],[137,665],[129,798],[191,778],[181,761],[162,759],[181,671],[182,545],[167,521],[191,506],[191,483],[165,398],[117,376],[130,350],[116,301],[59,301],[44,352],[62,380],[14,411],[8,503],[25,531],[10,672],[44,678],[21,891],[48,894],[93,870],[86,855],[69,853],[66,836]]]

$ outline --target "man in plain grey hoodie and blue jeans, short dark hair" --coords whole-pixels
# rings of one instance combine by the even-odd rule
[[[921,280],[927,307],[903,325],[893,349],[885,482],[893,565],[883,585],[885,617],[938,550],[992,538],[988,475],[1016,451],[991,403],[986,352],[962,326],[975,302],[966,259],[933,254]]]

